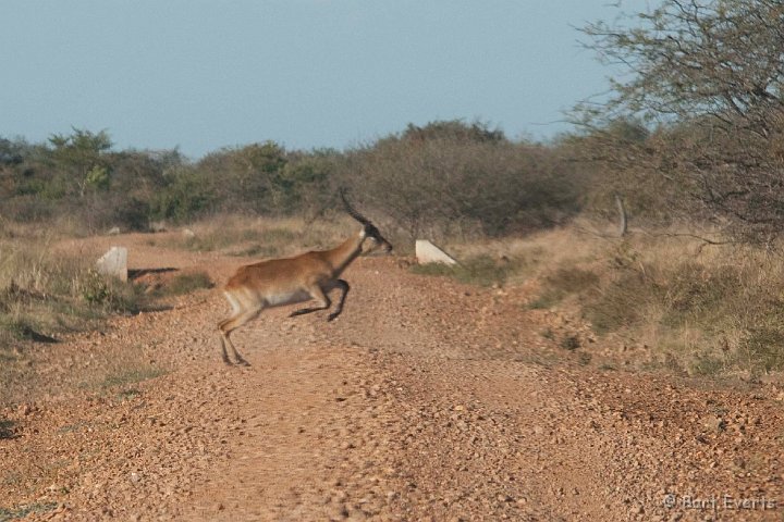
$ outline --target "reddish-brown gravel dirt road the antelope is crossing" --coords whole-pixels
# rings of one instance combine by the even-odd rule
[[[91,241],[218,282],[242,264]],[[237,331],[247,369],[220,362],[217,290],[26,348],[45,384],[0,411],[0,520],[784,519],[779,387],[580,365],[524,289],[393,258],[346,278],[333,323],[280,309]],[[126,352],[167,372],[74,384]]]

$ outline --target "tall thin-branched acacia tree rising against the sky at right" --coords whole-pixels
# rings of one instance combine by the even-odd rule
[[[574,113],[605,159],[660,175],[728,232],[770,239],[784,225],[784,2],[663,0],[583,30],[626,73],[609,101]],[[624,119],[653,132],[605,132]]]

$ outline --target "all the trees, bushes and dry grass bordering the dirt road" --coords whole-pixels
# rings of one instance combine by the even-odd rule
[[[149,298],[52,256],[52,237],[30,231],[187,226],[193,234],[149,240],[287,256],[342,238],[338,190],[347,187],[397,251],[427,237],[458,253],[458,266],[417,273],[486,287],[534,282],[529,309],[651,347],[651,368],[780,371],[782,20],[772,0],[662,0],[588,25],[586,46],[627,70],[608,100],[569,113],[575,132],[548,142],[480,121],[409,124],[346,150],[260,141],[198,160],[119,151],[105,130],[2,138],[0,358],[14,341],[90,327]],[[170,291],[209,284],[191,275]]]

